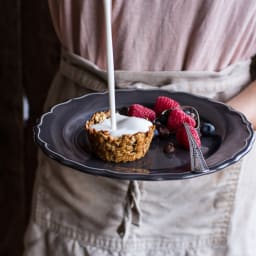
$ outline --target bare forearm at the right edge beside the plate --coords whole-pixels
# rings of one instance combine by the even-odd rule
[[[227,104],[242,112],[253,124],[254,130],[256,129],[256,81],[229,100]]]

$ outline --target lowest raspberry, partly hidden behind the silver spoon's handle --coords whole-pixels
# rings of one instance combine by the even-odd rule
[[[197,130],[192,126],[189,126],[189,129],[191,131],[192,136],[195,139],[196,144],[199,147],[201,147],[201,140],[200,140],[200,137],[199,137],[199,134],[198,134]],[[176,140],[181,146],[183,146],[185,149],[189,150],[188,136],[187,136],[186,129],[185,129],[184,126],[181,126],[177,129],[177,131],[176,131]]]

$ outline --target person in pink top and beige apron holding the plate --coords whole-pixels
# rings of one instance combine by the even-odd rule
[[[107,89],[103,1],[49,6],[62,57],[45,110]],[[255,128],[255,30],[253,0],[113,1],[116,87],[207,96]],[[39,153],[24,255],[252,256],[255,153],[211,175],[159,182],[88,175]]]

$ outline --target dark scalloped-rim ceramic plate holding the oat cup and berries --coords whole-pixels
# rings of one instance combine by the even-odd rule
[[[189,152],[177,148],[163,153],[168,139],[155,137],[147,155],[131,163],[104,162],[90,152],[83,129],[94,112],[108,109],[108,93],[93,93],[54,106],[35,126],[35,141],[50,157],[65,166],[118,179],[172,180],[197,177],[219,171],[241,159],[251,149],[254,133],[251,124],[239,112],[225,104],[186,93],[163,90],[117,90],[117,109],[140,103],[152,106],[159,95],[169,96],[181,105],[194,106],[202,120],[211,122],[214,136],[202,137],[202,152],[209,171],[190,171]]]

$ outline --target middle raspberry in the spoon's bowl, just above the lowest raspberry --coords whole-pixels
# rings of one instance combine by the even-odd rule
[[[177,108],[170,111],[167,119],[167,127],[170,131],[175,131],[182,126],[183,123],[187,123],[192,127],[196,126],[196,121],[182,109]]]

